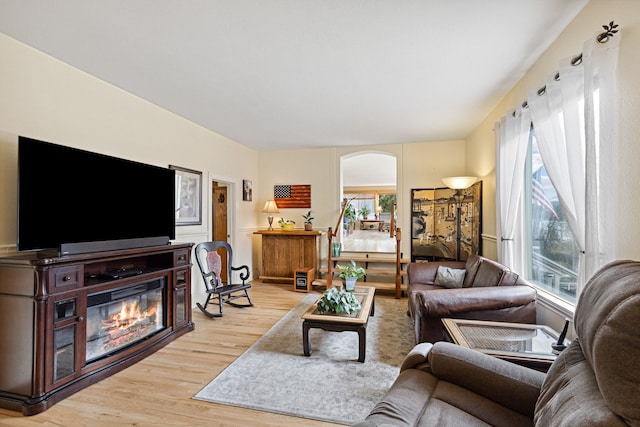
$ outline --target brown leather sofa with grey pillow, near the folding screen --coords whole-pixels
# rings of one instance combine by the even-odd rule
[[[440,272],[438,271],[440,268]],[[442,269],[464,275],[440,286]],[[443,317],[536,323],[536,291],[502,264],[472,255],[464,261],[411,263],[407,267],[409,315],[416,343],[442,341]]]

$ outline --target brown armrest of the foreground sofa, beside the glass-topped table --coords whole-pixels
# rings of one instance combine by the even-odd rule
[[[545,378],[542,372],[447,342],[433,345],[429,365],[439,379],[529,417]]]

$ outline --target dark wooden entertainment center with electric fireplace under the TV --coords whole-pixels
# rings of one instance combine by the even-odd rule
[[[0,258],[0,407],[37,414],[193,330],[192,246]],[[142,296],[132,297],[135,292]],[[96,313],[153,295],[160,306],[152,316],[156,329],[115,349],[104,346],[99,356],[89,354],[89,323],[106,323],[92,319]],[[88,300],[112,296],[114,302],[88,309]]]

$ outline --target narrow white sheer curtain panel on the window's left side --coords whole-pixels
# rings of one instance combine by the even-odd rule
[[[522,244],[515,244],[518,210],[524,183],[524,163],[531,128],[528,109],[507,112],[495,126],[496,212],[498,261],[514,271],[525,271]]]

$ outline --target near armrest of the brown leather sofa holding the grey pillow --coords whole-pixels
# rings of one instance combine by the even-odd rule
[[[416,291],[413,297],[422,316],[447,317],[469,311],[527,305],[535,301],[536,291],[530,286],[491,286]]]

